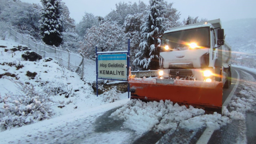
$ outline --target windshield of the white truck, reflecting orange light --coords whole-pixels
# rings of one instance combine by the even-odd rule
[[[162,45],[168,45],[171,50],[186,50],[191,44],[196,48],[210,48],[210,28],[185,29],[166,33],[162,38]]]

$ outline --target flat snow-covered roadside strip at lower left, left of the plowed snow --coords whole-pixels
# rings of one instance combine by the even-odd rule
[[[6,130],[1,132],[0,143],[127,143],[132,132],[95,132],[95,121],[106,111],[120,107],[128,100]]]

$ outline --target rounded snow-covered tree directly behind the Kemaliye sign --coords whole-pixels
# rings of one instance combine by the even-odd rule
[[[92,26],[87,30],[84,41],[81,42],[79,52],[88,58],[94,58],[95,46],[99,51],[127,50],[127,40],[124,27],[106,18],[99,26]]]

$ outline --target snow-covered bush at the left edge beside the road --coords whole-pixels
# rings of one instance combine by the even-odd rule
[[[0,95],[0,103],[4,103],[0,108],[2,130],[35,123],[54,115],[50,108],[50,96],[47,93],[36,91],[32,84],[15,83],[20,89],[20,95],[11,93],[3,97]]]

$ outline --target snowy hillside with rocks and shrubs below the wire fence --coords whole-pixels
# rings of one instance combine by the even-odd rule
[[[22,59],[32,51],[10,38],[0,46],[0,132],[127,98],[114,90],[96,97],[92,86],[56,60]]]

